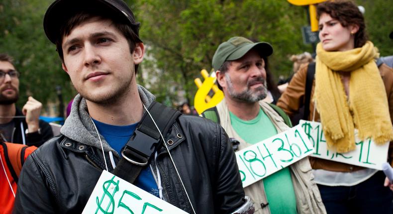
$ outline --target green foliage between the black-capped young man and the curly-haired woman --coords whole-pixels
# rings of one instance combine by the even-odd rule
[[[201,69],[211,69],[217,46],[232,36],[271,43],[275,75],[288,75],[288,55],[307,48],[300,33],[307,23],[305,10],[284,0],[141,0],[137,8],[141,38],[152,47],[157,69],[164,71],[157,92],[173,87],[165,83],[177,83],[189,101],[197,90],[193,80]]]

